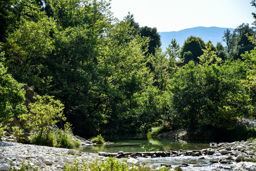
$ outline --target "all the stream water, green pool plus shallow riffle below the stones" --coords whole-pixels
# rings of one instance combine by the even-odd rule
[[[156,139],[147,139],[145,134],[139,135],[123,135],[123,136],[109,136],[105,138],[112,144],[107,145],[94,145],[77,150],[89,153],[98,153],[99,151],[117,153],[123,152],[144,152],[144,151],[189,151],[189,150],[202,150],[210,148],[209,142],[177,142],[177,141],[164,141]],[[204,159],[200,159],[204,157]],[[143,163],[148,163],[154,166],[172,165],[172,168],[181,165],[182,163],[189,164],[188,167],[182,167],[183,171],[230,171],[232,164],[209,164],[210,160],[218,160],[222,156],[180,156],[180,157],[161,157],[161,158],[142,158],[137,160]],[[200,166],[199,166],[200,165]]]

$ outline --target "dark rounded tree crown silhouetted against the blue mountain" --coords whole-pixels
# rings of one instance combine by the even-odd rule
[[[192,53],[192,60],[196,63],[199,62],[198,57],[203,55],[203,50],[205,49],[206,44],[201,38],[197,38],[195,36],[190,36],[187,38],[187,40],[184,42],[183,46],[180,49],[180,56],[183,57],[184,63],[187,64],[191,59],[191,56],[185,55],[185,52],[191,52]],[[186,58],[189,57],[189,58]]]

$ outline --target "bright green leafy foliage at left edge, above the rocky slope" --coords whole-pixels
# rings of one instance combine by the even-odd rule
[[[2,54],[1,54],[2,55]],[[23,104],[25,91],[12,75],[7,73],[0,55],[0,123],[12,120],[12,116],[26,113]]]

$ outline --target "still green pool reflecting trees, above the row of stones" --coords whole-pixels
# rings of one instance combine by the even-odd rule
[[[145,134],[135,136],[112,136],[107,137],[107,141],[113,142],[107,145],[94,145],[77,149],[83,152],[97,153],[105,151],[116,153],[119,151],[124,152],[143,152],[143,151],[166,151],[166,150],[201,150],[209,148],[209,142],[176,142],[164,141],[156,139],[147,139]]]

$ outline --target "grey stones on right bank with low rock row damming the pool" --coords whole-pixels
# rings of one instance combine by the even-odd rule
[[[209,159],[209,166],[218,164],[217,169],[227,169],[235,171],[255,171],[256,163],[253,163],[256,160],[256,145],[254,142],[250,141],[241,141],[241,142],[232,142],[232,143],[210,143],[212,148],[202,149],[200,151],[151,151],[151,152],[129,152],[123,153],[105,153],[99,152],[99,155],[108,157],[128,157],[134,158],[133,162],[137,163],[137,160],[143,158],[157,158],[157,157],[195,157],[198,160],[209,159],[209,156],[212,157],[212,160]],[[225,165],[230,164],[230,165]],[[183,170],[187,170],[186,167],[191,166],[190,163],[183,163],[177,167]],[[161,167],[166,167],[165,165]],[[193,164],[192,167],[203,167],[203,165]],[[247,169],[247,170],[243,170]],[[191,170],[191,169],[189,169]]]

